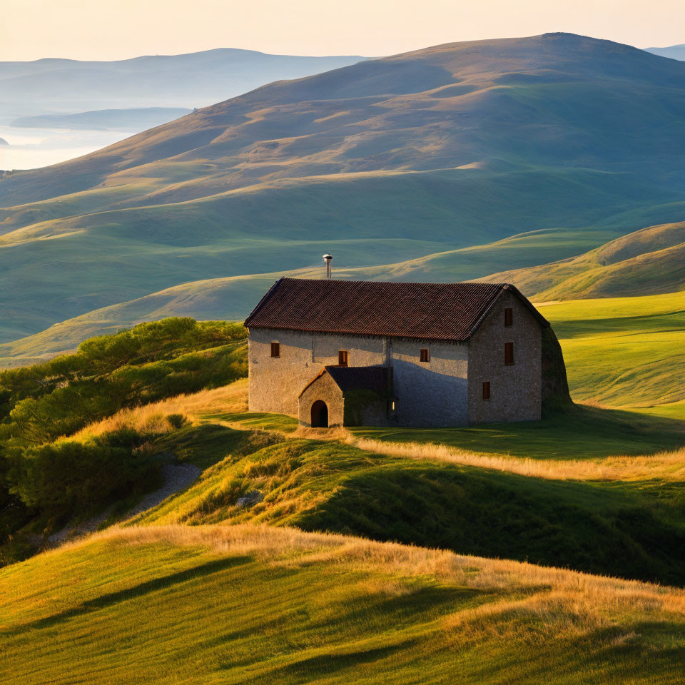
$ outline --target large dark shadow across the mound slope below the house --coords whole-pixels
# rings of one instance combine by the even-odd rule
[[[685,484],[678,485],[662,500],[641,484],[542,480],[378,457],[347,473],[292,524],[682,585]]]

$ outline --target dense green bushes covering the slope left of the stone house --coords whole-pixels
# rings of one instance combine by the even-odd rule
[[[245,338],[237,323],[168,318],[0,372],[0,547],[31,517],[85,514],[152,477],[149,436],[69,436],[126,407],[244,377]]]

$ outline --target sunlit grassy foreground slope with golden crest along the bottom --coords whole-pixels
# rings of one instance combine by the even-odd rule
[[[0,615],[7,684],[676,685],[685,668],[681,590],[290,529],[99,534],[0,570]]]

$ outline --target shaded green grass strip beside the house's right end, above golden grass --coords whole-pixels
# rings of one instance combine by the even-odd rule
[[[685,421],[589,405],[574,405],[541,421],[464,428],[350,429],[387,442],[435,442],[471,452],[532,459],[600,459],[649,455],[685,445]]]

